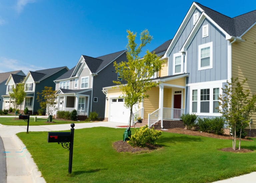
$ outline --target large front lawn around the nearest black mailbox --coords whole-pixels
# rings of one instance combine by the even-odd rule
[[[69,151],[47,143],[47,132],[19,133],[46,182],[212,182],[256,171],[256,152],[231,153],[219,149],[231,140],[163,132],[163,148],[149,153],[118,153],[112,143],[124,129],[75,129],[72,174]],[[133,134],[133,131],[132,131]],[[255,139],[253,139],[255,140]],[[242,148],[256,149],[255,141]]]

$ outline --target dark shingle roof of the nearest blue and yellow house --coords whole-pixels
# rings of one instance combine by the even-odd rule
[[[230,18],[200,3],[195,2],[205,13],[231,36],[241,36],[256,22],[256,10]]]

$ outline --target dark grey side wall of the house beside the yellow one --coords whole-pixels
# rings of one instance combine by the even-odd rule
[[[115,59],[117,63],[127,61],[126,53],[120,55]],[[104,118],[106,95],[102,92],[102,88],[115,85],[113,81],[117,80],[117,73],[115,72],[114,62],[102,69],[97,76],[93,77],[93,96],[92,96],[92,111],[97,111],[100,118]],[[108,90],[110,91],[110,90]],[[94,97],[98,98],[98,102],[94,102]]]

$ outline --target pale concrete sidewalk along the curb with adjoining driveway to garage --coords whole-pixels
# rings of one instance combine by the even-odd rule
[[[95,122],[75,123],[75,129],[91,127],[120,128],[123,123]],[[70,130],[70,124],[29,126],[29,131],[61,131]],[[6,126],[0,124],[0,136],[6,153],[7,183],[44,183],[41,172],[27,151],[26,146],[16,136],[16,133],[26,132],[27,126]]]

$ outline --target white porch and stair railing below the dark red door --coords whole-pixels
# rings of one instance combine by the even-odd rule
[[[180,120],[181,115],[184,113],[184,109],[163,108],[163,119],[167,120]],[[148,127],[161,120],[160,108],[148,114]]]

